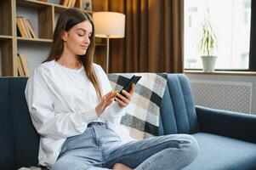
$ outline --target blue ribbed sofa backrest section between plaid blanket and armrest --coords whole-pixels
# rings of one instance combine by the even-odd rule
[[[161,117],[164,134],[199,131],[191,86],[184,74],[168,74],[168,87],[162,98]]]

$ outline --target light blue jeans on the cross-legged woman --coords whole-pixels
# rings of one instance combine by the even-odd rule
[[[84,133],[65,140],[52,170],[111,169],[117,162],[136,170],[182,169],[197,153],[196,139],[188,134],[122,144],[105,123],[92,122]]]

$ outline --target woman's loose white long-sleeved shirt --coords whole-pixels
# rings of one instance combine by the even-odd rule
[[[111,84],[101,66],[94,64],[94,71],[102,94],[109,93]],[[83,133],[89,122],[106,122],[123,142],[131,140],[124,139],[118,131],[124,112],[117,102],[97,116],[95,107],[99,99],[83,66],[75,70],[55,60],[45,62],[29,77],[25,94],[32,123],[40,134],[40,165],[52,167],[65,139]]]

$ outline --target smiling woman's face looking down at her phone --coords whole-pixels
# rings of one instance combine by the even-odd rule
[[[73,26],[70,31],[64,32],[62,37],[65,41],[64,48],[75,55],[86,54],[92,32],[93,26],[88,20]]]

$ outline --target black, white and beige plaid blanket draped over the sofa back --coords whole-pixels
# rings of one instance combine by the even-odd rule
[[[121,90],[134,73],[111,73],[108,78],[115,90]],[[167,85],[166,74],[135,73],[142,76],[135,86],[134,96],[122,116],[121,128],[128,129],[133,139],[158,135],[160,105]]]

